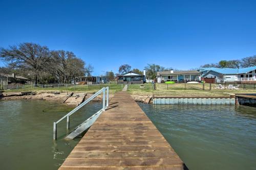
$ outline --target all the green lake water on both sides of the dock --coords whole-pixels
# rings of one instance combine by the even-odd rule
[[[139,104],[188,168],[256,169],[256,108]],[[70,117],[73,129],[102,107],[89,104]],[[58,169],[79,138],[63,140],[71,107],[36,100],[0,101],[0,169]]]

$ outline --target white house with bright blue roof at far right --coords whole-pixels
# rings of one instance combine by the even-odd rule
[[[202,68],[202,78],[214,78],[215,82],[256,81],[256,66],[246,68]]]

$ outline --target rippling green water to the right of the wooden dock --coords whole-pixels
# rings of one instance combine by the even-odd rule
[[[190,170],[256,169],[256,108],[139,105]]]

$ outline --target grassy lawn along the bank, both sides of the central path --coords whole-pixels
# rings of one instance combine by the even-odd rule
[[[114,94],[117,91],[122,90],[124,85],[111,83],[111,84],[96,84],[96,85],[71,85],[71,86],[42,86],[31,88],[31,85],[20,86],[17,89],[5,90],[5,92],[22,92],[22,91],[75,91],[75,92],[88,92],[94,93],[101,89],[102,87],[110,88],[110,94]],[[228,84],[227,84],[228,86]],[[215,85],[211,85],[211,90],[209,84],[156,84],[156,90],[154,90],[151,83],[145,83],[144,87],[141,88],[140,84],[131,84],[127,92],[134,95],[155,95],[155,96],[187,96],[187,97],[217,97],[230,96],[229,93],[255,93],[253,84],[246,85],[245,90],[243,86],[239,90],[229,90],[229,89],[214,89]],[[203,90],[203,88],[205,90]]]

